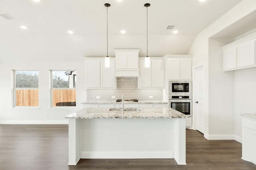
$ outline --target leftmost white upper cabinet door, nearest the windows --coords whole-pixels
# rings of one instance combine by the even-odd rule
[[[99,88],[100,61],[85,61],[85,76],[87,88]]]

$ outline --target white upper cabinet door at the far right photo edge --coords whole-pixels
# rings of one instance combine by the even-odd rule
[[[255,40],[237,46],[237,67],[255,65]]]

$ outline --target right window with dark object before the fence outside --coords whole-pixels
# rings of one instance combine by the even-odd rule
[[[52,107],[76,106],[76,71],[51,70]]]

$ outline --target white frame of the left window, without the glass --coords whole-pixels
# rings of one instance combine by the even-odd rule
[[[37,71],[38,72],[38,88],[16,88],[16,72],[17,71]],[[16,106],[16,90],[38,90],[38,106]],[[12,108],[13,109],[39,109],[39,70],[12,70]]]

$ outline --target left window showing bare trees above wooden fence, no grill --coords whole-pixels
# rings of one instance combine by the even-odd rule
[[[14,107],[38,106],[38,71],[14,70]]]

